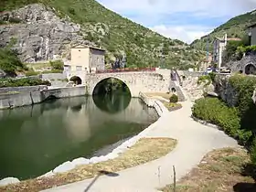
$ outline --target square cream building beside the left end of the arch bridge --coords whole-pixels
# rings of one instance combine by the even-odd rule
[[[105,69],[105,50],[89,46],[75,46],[71,48],[71,61],[65,63],[65,71],[87,71]]]

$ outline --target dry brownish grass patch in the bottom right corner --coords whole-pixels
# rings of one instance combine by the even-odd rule
[[[244,149],[214,150],[208,153],[187,176],[177,182],[176,192],[256,191],[254,180],[245,168],[249,163],[250,155]],[[173,185],[163,188],[162,191],[173,192]]]

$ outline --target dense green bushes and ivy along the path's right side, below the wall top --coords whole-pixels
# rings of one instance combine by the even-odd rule
[[[198,119],[219,125],[240,144],[251,148],[251,161],[256,165],[256,105],[251,100],[256,78],[236,75],[229,79],[229,83],[238,94],[235,107],[216,98],[204,98],[196,101],[192,113]]]

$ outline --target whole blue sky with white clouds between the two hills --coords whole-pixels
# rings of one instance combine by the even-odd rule
[[[165,37],[187,43],[256,9],[256,0],[97,0],[101,5]]]

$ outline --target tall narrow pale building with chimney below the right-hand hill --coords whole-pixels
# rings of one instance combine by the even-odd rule
[[[226,49],[229,41],[240,41],[240,38],[228,38],[227,34],[224,37],[215,37],[213,42],[213,62],[218,64],[218,68],[222,67],[223,52]]]

